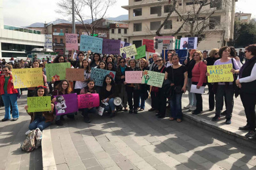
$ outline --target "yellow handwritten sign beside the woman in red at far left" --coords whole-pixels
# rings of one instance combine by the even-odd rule
[[[44,86],[42,68],[13,69],[14,88]]]

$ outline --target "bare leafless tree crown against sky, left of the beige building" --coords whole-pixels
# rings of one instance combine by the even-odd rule
[[[90,33],[93,35],[95,28],[98,27],[101,19],[106,15],[108,8],[113,6],[115,2],[116,0],[75,0],[75,20],[84,25],[85,31],[88,35],[90,35]],[[57,2],[57,6],[59,7],[59,9],[56,10],[57,13],[71,19],[71,0],[61,0]],[[92,22],[85,22],[85,19],[87,18],[92,19]]]

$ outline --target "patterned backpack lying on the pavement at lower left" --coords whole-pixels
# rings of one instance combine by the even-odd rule
[[[31,130],[30,133],[28,133],[27,138],[22,142],[20,149],[22,151],[31,152],[35,148],[41,146],[41,141],[42,131],[39,128],[36,128],[35,130]]]

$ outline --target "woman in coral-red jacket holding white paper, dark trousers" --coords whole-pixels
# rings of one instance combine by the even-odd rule
[[[196,51],[193,54],[193,59],[196,61],[195,66],[192,70],[192,86],[195,85],[196,89],[200,89],[205,87],[207,83],[207,78],[205,76],[205,73],[207,72],[207,65],[202,61],[203,54],[200,51]],[[192,89],[192,87],[191,87]],[[196,94],[196,110],[193,111],[192,114],[196,115],[203,111],[203,99],[202,94],[195,93]]]

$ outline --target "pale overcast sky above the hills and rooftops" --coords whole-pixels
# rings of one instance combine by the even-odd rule
[[[56,3],[61,0],[3,0],[3,19],[5,24],[14,26],[27,26],[32,23],[48,23],[63,18],[56,14]],[[116,17],[128,14],[128,11],[121,6],[128,5],[128,0],[117,0],[106,17]],[[256,0],[238,0],[236,12],[251,13],[256,18]],[[89,19],[89,18],[87,18]]]

